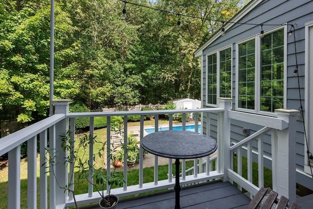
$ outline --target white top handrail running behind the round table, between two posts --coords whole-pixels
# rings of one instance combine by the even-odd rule
[[[161,115],[161,114],[176,114],[188,112],[222,112],[223,108],[199,108],[199,109],[167,109],[167,110],[142,110],[142,111],[118,111],[118,112],[71,112],[67,113],[69,118],[79,117],[104,117],[104,116],[125,116],[125,115]]]

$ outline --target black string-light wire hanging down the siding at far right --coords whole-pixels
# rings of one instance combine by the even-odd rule
[[[300,100],[300,112],[301,112],[301,116],[302,116],[302,122],[303,122],[303,127],[304,127],[304,137],[305,137],[305,143],[307,145],[307,156],[308,156],[308,161],[309,161],[309,166],[310,166],[310,170],[311,170],[311,176],[313,178],[313,172],[312,172],[312,167],[311,167],[311,163],[310,163],[310,156],[312,157],[312,153],[309,151],[309,143],[308,143],[308,138],[307,138],[307,131],[305,128],[305,123],[304,123],[304,115],[303,115],[303,106],[302,106],[302,101],[301,101],[301,92],[300,92],[300,80],[299,80],[299,71],[298,71],[298,59],[297,59],[297,47],[295,44],[295,32],[294,32],[294,27],[293,25],[291,26],[291,29],[293,28],[293,39],[294,39],[294,53],[295,53],[295,70],[294,72],[297,73],[297,79],[298,79],[298,89],[299,89],[299,100]],[[290,29],[290,31],[291,31]],[[311,154],[311,155],[310,155]]]

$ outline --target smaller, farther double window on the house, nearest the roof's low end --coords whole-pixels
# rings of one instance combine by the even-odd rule
[[[207,55],[207,104],[218,97],[231,98],[231,48]]]

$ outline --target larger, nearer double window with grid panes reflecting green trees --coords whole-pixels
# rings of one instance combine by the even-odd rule
[[[284,108],[284,31],[237,43],[236,108],[268,114]]]

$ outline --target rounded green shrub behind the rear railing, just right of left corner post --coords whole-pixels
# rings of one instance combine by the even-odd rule
[[[69,104],[69,112],[90,112],[88,107],[80,102],[74,101]],[[75,129],[84,129],[89,127],[89,117],[88,118],[75,118]]]

